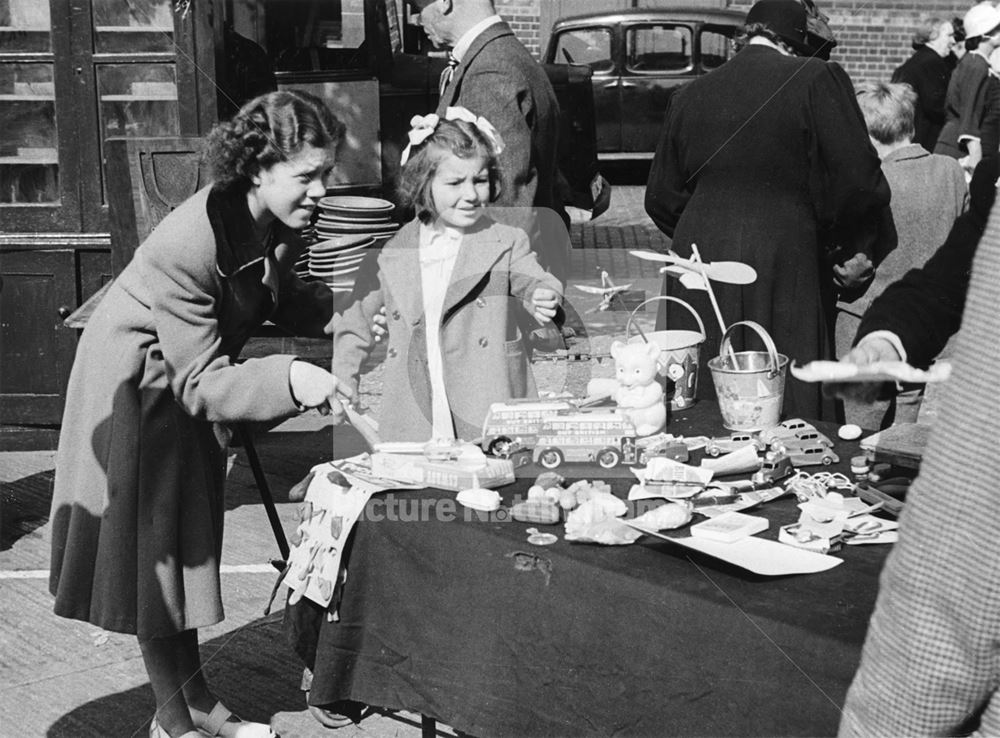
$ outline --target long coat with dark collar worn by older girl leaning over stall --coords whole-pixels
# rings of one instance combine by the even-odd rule
[[[87,324],[70,374],[52,501],[55,612],[140,639],[211,625],[219,587],[226,433],[298,412],[294,356],[235,363],[266,318],[323,335],[324,285],[304,247],[254,235],[242,194],[205,188],[136,250]]]

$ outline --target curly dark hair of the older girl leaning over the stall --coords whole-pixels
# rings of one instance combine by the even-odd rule
[[[344,124],[308,92],[279,90],[255,97],[208,134],[205,162],[222,188],[249,187],[250,178],[305,146],[337,148]]]

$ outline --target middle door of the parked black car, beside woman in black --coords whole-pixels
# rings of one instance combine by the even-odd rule
[[[667,100],[696,76],[694,27],[672,21],[623,24],[622,148],[652,156]]]

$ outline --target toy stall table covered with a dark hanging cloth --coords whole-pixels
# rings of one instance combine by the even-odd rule
[[[710,403],[668,430],[725,432]],[[808,470],[846,471],[857,449],[839,442],[839,465]],[[767,578],[658,538],[571,543],[561,525],[504,514],[541,470],[518,471],[497,513],[434,489],[369,502],[339,621],[307,600],[286,610],[314,666],[312,704],[407,709],[477,736],[836,733],[888,546],[845,546],[832,570]],[[635,479],[608,481],[624,497]],[[771,521],[763,537],[797,519],[795,503],[751,511]],[[560,540],[530,545],[529,527]]]

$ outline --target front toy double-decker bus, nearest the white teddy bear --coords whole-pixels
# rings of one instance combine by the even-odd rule
[[[635,426],[628,418],[609,410],[578,410],[542,423],[532,460],[546,469],[564,461],[596,462],[611,469],[623,461],[639,462],[641,455]]]

